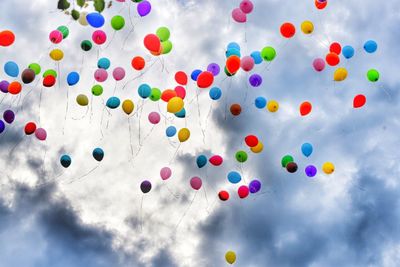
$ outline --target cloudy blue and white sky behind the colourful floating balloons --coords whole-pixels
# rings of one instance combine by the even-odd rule
[[[16,41],[1,47],[0,64],[12,60],[23,70],[38,62],[42,70],[56,69],[59,81],[43,88],[36,78],[20,96],[0,96],[0,112],[16,112],[0,134],[0,266],[227,266],[228,250],[236,253],[235,266],[399,266],[398,2],[331,0],[318,11],[311,0],[253,0],[245,24],[231,18],[239,0],[151,3],[151,13],[139,18],[135,3],[114,1],[103,12],[108,41],[83,52],[80,43],[94,29],[58,11],[56,1],[2,1],[0,29],[12,30]],[[119,32],[109,24],[116,14],[126,19]],[[311,36],[299,29],[304,20],[315,25]],[[284,22],[297,28],[290,40],[279,33]],[[51,44],[48,35],[60,25],[70,35]],[[160,26],[170,29],[173,50],[154,57],[143,38]],[[363,50],[370,39],[378,43],[373,54]],[[349,75],[340,83],[332,81],[334,68],[312,68],[334,41],[356,51],[349,60],[341,57]],[[244,71],[229,78],[221,73],[214,86],[223,96],[212,101],[209,89],[190,80],[185,119],[168,114],[164,102],[138,96],[142,83],[174,88],[178,70],[223,66],[230,42],[240,45],[242,55],[276,49],[271,64],[250,72],[263,77],[260,87],[251,87]],[[48,56],[54,48],[64,51],[60,63]],[[146,60],[142,75],[130,65],[134,56]],[[111,69],[123,67],[126,78],[116,82],[110,72],[104,93],[94,97],[99,57],[109,58]],[[377,83],[366,78],[371,68],[380,72]],[[80,73],[75,86],[66,83],[71,71]],[[0,75],[11,79],[3,70]],[[135,103],[129,119],[121,109],[104,108],[114,91]],[[79,94],[88,95],[88,107],[76,104]],[[352,106],[357,94],[367,97],[361,109]],[[257,109],[258,96],[278,101],[278,112]],[[313,111],[301,117],[304,101],[312,102]],[[232,103],[241,104],[240,116],[229,113]],[[162,114],[155,126],[147,120],[153,111]],[[46,129],[45,142],[24,134],[28,121]],[[190,139],[168,139],[169,125],[189,128]],[[247,149],[249,134],[262,140],[264,150],[238,164],[234,155]],[[301,154],[305,142],[313,144],[310,157]],[[92,157],[96,147],[105,152],[101,162]],[[63,154],[72,158],[67,169],[59,163]],[[200,154],[221,155],[224,163],[199,169]],[[280,165],[286,154],[299,165],[294,174]],[[327,161],[335,165],[331,175],[321,169]],[[318,168],[314,178],[304,174],[309,164]],[[165,166],[173,175],[163,181]],[[239,185],[226,179],[231,170],[241,172],[239,185],[259,179],[261,191],[240,199]],[[199,191],[189,185],[194,176],[203,180]],[[146,195],[143,180],[153,185]],[[229,191],[228,201],[218,199],[220,190]]]

